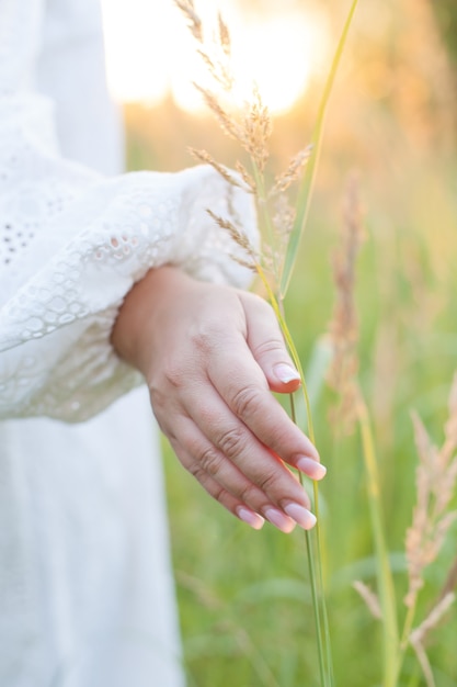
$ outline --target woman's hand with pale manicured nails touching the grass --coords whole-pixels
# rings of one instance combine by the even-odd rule
[[[127,295],[113,345],[145,375],[162,431],[214,498],[255,529],[264,518],[285,532],[315,525],[285,463],[313,480],[325,469],[271,394],[295,391],[299,375],[265,301],[158,268]]]

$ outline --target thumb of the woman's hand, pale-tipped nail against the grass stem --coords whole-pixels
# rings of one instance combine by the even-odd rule
[[[287,352],[273,308],[263,299],[242,294],[247,342],[269,382],[271,391],[290,393],[300,386],[300,375]]]

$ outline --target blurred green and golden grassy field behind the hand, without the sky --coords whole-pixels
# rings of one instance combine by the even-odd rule
[[[408,15],[407,5],[413,12],[413,4],[403,3],[403,21],[415,16]],[[399,21],[375,41],[376,32],[364,23],[368,10],[361,14],[352,38],[358,47],[344,63],[332,98],[286,312],[307,369],[332,314],[332,256],[355,171],[365,229],[356,279],[359,374],[376,438],[402,619],[404,533],[415,503],[418,460],[411,412],[439,446],[457,370],[457,108],[454,82],[443,86],[446,75],[430,64],[427,50],[436,52],[437,44],[421,43],[421,36],[432,35],[427,26]],[[319,87],[317,80],[293,112],[275,121],[275,168],[308,143]],[[129,105],[126,124],[130,169],[192,165],[187,146],[206,148],[228,165],[238,155],[216,124],[182,112],[171,100],[153,109]],[[330,421],[334,401],[325,386],[311,398],[317,444],[329,469],[320,494],[335,682],[376,687],[381,685],[380,626],[352,588],[354,579],[376,587],[361,440],[357,431],[338,433]],[[251,531],[210,500],[168,447],[165,469],[190,687],[318,687],[302,532],[285,536],[269,525]],[[454,523],[439,560],[426,571],[419,618],[439,596],[456,559],[456,533]],[[437,687],[457,686],[456,641],[454,606],[427,642]],[[425,684],[409,652],[399,687]]]

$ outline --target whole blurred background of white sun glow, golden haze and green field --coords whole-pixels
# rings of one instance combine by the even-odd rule
[[[349,0],[196,0],[230,27],[240,89],[250,79],[274,119],[271,168],[311,137]],[[233,165],[239,150],[203,108],[204,77],[172,1],[105,0],[110,83],[122,102],[129,169],[194,165],[188,146]],[[248,85],[248,86],[247,86]],[[365,240],[356,274],[359,378],[376,438],[391,567],[402,619],[404,533],[415,503],[411,412],[443,441],[457,370],[457,3],[359,0],[332,93],[307,230],[286,312],[305,368],[334,303],[332,257],[350,178]],[[352,587],[376,587],[359,437],[331,421],[327,386],[312,398],[324,572],[336,684],[381,684],[379,623]],[[190,687],[318,685],[302,533],[253,532],[222,511],[165,448],[184,660]],[[454,504],[456,499],[454,498]],[[420,616],[456,558],[456,527],[427,570]],[[457,685],[453,608],[430,637],[438,687]],[[399,685],[425,685],[412,653]]]

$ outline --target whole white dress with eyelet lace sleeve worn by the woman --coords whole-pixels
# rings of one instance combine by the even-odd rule
[[[128,1],[128,0],[126,0]],[[156,426],[110,346],[151,266],[243,285],[212,169],[113,176],[95,0],[0,0],[0,685],[182,687]]]

